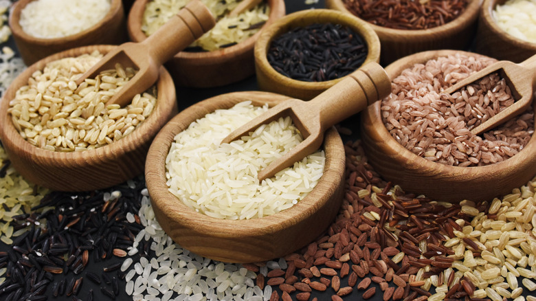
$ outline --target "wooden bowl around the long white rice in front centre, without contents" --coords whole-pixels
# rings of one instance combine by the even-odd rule
[[[147,155],[145,179],[155,216],[175,242],[214,260],[249,263],[289,254],[326,230],[339,210],[344,186],[344,147],[334,128],[324,136],[326,166],[319,183],[302,201],[277,214],[238,221],[215,219],[188,208],[166,185],[165,160],[173,139],[194,120],[245,100],[273,106],[287,99],[259,91],[223,94],[181,111],[160,131]]]

